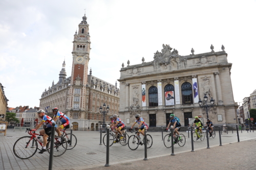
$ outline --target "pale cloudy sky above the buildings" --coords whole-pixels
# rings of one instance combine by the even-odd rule
[[[0,1],[0,83],[8,107],[39,107],[58,81],[63,60],[71,76],[73,39],[86,9],[92,74],[115,84],[122,63],[153,61],[162,44],[179,55],[216,52],[232,63],[234,101],[256,89],[256,1]],[[119,82],[118,87],[119,87]]]

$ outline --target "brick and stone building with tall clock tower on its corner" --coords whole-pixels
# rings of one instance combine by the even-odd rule
[[[99,107],[105,103],[110,111],[105,115],[105,121],[110,121],[110,115],[118,113],[119,89],[99,78],[88,75],[88,63],[90,60],[90,34],[87,17],[84,14],[78,25],[79,30],[74,35],[73,62],[71,77],[66,78],[65,61],[59,74],[59,81],[42,93],[40,109],[47,109],[51,114],[52,107],[66,113],[71,118],[74,130],[98,130],[103,123],[103,115],[99,113]]]

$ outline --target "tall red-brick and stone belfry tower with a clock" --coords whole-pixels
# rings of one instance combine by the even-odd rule
[[[88,76],[88,63],[90,60],[90,35],[86,14],[78,25],[73,41],[73,63],[69,89],[68,115],[78,114],[78,118],[84,118],[85,95]]]

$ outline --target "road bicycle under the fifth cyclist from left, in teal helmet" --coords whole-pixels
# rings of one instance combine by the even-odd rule
[[[168,132],[167,129],[165,129],[165,132]],[[185,136],[180,133],[181,139],[179,140],[178,134],[176,132],[174,132],[174,134],[175,134],[174,144],[178,143],[180,147],[183,147],[186,143]],[[164,136],[163,144],[165,145],[166,148],[172,147],[172,133],[171,132],[169,132],[169,134]]]

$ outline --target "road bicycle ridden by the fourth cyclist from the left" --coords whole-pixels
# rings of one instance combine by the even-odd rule
[[[132,130],[133,129],[129,129],[129,132],[133,133]],[[139,140],[141,140],[141,137],[139,137],[137,133],[141,133],[141,132],[139,132],[138,130],[139,130],[138,128],[135,128],[135,135],[131,135],[128,139],[128,146],[131,150],[136,150],[139,147],[139,144],[140,144]],[[140,135],[140,136],[143,136],[143,135]],[[147,139],[146,148],[151,148],[153,144],[152,136],[150,134],[146,134],[146,139]],[[145,143],[145,139],[143,136],[143,139],[141,140],[141,145],[143,145],[144,143]]]

